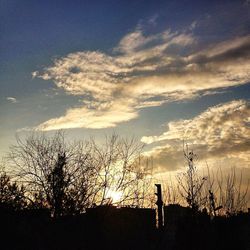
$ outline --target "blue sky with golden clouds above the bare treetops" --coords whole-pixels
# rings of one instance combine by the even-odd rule
[[[0,4],[0,156],[31,131],[115,132],[157,173],[183,167],[185,142],[249,179],[249,0]]]

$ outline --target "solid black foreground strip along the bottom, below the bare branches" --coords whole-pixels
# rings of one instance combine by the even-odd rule
[[[250,214],[210,217],[169,205],[165,226],[155,210],[103,206],[76,216],[51,218],[48,210],[0,209],[1,249],[250,249]]]

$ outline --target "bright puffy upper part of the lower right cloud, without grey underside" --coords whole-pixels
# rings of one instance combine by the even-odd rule
[[[211,107],[193,119],[170,122],[167,132],[142,140],[152,143],[188,139],[213,148],[229,141],[242,144],[250,138],[249,119],[250,104],[243,100],[232,101]]]

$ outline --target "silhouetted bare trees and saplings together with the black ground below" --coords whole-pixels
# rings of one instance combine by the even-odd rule
[[[216,184],[185,147],[177,188],[157,184],[155,196],[142,148],[115,135],[102,147],[61,133],[18,139],[0,172],[0,249],[250,250],[247,189],[234,171]]]

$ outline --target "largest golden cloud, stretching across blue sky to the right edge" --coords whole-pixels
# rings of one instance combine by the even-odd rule
[[[137,27],[110,55],[82,51],[56,59],[33,77],[53,80],[68,94],[79,95],[83,104],[38,129],[113,127],[138,117],[141,108],[247,83],[249,44],[250,36],[244,36],[197,50],[192,32],[168,29],[146,35]]]

